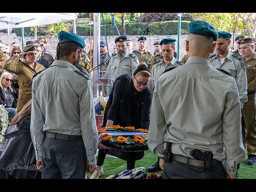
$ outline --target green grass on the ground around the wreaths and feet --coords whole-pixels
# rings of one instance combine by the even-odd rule
[[[246,151],[247,152],[247,151]],[[247,165],[246,159],[244,162],[240,163],[240,168],[238,169],[239,179],[255,179],[256,178],[256,165]],[[150,150],[144,152],[144,157],[135,163],[136,167],[150,167],[154,165],[157,161],[157,156],[153,154]],[[100,178],[105,179],[110,175],[119,174],[126,170],[126,161],[120,158],[106,157],[103,164],[104,173]],[[161,174],[162,171],[155,172],[155,174]],[[148,172],[148,176],[152,174]],[[86,173],[87,178],[90,178],[92,174]]]

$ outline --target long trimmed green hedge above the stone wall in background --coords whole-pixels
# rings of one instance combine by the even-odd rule
[[[181,34],[187,34],[189,21],[181,21]],[[121,33],[121,24],[116,24],[119,33]],[[116,30],[116,26],[112,29],[111,25],[105,25],[106,35],[107,36],[115,36],[118,35]],[[164,21],[164,22],[152,22],[149,23],[126,23],[126,35],[172,35],[178,33],[178,21]],[[37,36],[49,36],[48,32],[46,33],[47,26],[38,26],[37,28]],[[93,25],[77,25],[76,26],[76,34],[79,36],[93,36]],[[14,32],[17,36],[21,36],[21,28],[14,29]],[[73,32],[73,29],[70,29],[70,32]],[[104,25],[100,26],[100,35],[104,36]],[[30,30],[30,27],[24,28],[24,36],[34,36],[34,31]]]

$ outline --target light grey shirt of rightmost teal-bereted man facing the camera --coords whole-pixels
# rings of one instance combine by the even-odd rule
[[[225,70],[236,79],[242,109],[244,103],[248,101],[246,66],[244,60],[242,60],[240,56],[234,56],[228,51],[223,61],[220,61],[218,54],[214,54],[209,58],[209,62],[213,67]]]

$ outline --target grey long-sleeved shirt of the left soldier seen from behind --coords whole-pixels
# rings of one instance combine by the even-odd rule
[[[96,164],[98,132],[90,80],[67,61],[56,60],[32,83],[30,132],[42,160],[44,132],[82,135],[88,164]]]

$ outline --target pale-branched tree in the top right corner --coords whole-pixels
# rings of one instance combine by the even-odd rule
[[[246,29],[250,32],[250,36],[255,38],[256,33],[256,13],[238,13],[246,25]]]

